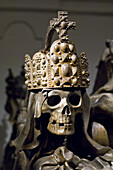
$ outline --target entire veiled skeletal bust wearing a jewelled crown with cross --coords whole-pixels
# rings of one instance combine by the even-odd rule
[[[90,117],[88,63],[77,56],[67,30],[75,28],[67,12],[50,22],[45,49],[32,60],[25,57],[29,90],[20,114],[26,117],[16,147],[13,169],[112,169],[113,151],[96,143],[87,133]],[[59,40],[51,45],[54,31]],[[23,114],[24,113],[24,114]]]

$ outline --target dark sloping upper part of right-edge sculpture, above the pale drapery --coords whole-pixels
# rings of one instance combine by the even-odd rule
[[[98,65],[98,72],[93,93],[95,93],[100,87],[105,85],[113,77],[113,40],[108,39],[105,42],[105,45],[106,48]]]

